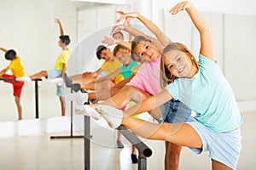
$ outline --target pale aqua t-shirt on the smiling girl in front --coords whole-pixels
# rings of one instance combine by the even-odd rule
[[[195,119],[206,127],[216,132],[240,127],[242,119],[235,95],[220,68],[201,54],[198,64],[194,77],[177,78],[166,90],[195,111]]]

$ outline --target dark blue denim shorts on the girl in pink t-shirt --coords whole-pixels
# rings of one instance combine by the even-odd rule
[[[160,106],[162,112],[162,122],[188,122],[191,116],[191,110],[182,102],[171,99]]]

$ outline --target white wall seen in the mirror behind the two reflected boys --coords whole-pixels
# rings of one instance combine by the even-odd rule
[[[26,69],[31,75],[37,71],[54,68],[55,59],[61,48],[58,47],[59,27],[55,18],[60,18],[65,33],[71,37],[70,48],[76,45],[76,10],[84,3],[69,0],[9,0],[0,5],[0,46],[15,48]],[[0,52],[0,69],[9,61]],[[0,107],[2,120],[15,120],[17,111],[12,87],[0,82]],[[39,116],[61,116],[60,102],[55,95],[55,85],[39,82]],[[21,96],[24,118],[33,118],[34,83],[24,86]]]

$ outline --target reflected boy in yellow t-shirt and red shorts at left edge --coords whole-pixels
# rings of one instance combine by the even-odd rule
[[[3,52],[5,52],[5,59],[10,60],[10,64],[0,71],[0,77],[6,79],[14,79],[14,80],[4,80],[4,82],[9,82],[13,85],[14,88],[14,96],[15,96],[15,104],[18,109],[18,120],[22,119],[22,106],[20,104],[20,94],[22,88],[24,86],[24,82],[16,82],[15,78],[23,77],[25,75],[24,67],[21,63],[20,57],[16,54],[13,49],[5,49],[0,48]],[[5,74],[7,71],[11,70],[12,75]]]

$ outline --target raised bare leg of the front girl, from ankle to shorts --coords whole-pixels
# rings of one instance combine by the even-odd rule
[[[187,123],[146,122],[134,117],[124,117],[122,125],[145,139],[157,139],[181,146],[201,148],[202,141],[195,129]]]

